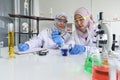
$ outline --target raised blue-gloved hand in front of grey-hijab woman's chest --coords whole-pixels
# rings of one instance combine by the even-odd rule
[[[52,39],[55,43],[58,44],[58,46],[62,46],[63,45],[63,40],[62,37],[60,35],[60,31],[59,30],[55,30],[52,32]]]

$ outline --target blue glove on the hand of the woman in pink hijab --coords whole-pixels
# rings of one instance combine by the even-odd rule
[[[75,45],[73,48],[70,49],[69,53],[72,55],[81,54],[85,52],[86,48],[82,45]]]

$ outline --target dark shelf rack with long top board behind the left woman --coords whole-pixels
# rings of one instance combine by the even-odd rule
[[[47,18],[47,17],[38,17],[38,16],[27,16],[27,15],[19,15],[19,14],[8,14],[10,17],[13,17],[13,18],[18,18],[18,34],[19,34],[19,37],[18,37],[18,40],[19,40],[19,43],[21,43],[21,34],[28,34],[29,38],[31,38],[33,36],[33,34],[36,34],[38,35],[39,34],[39,21],[54,21],[54,18]],[[21,31],[21,19],[28,19],[29,20],[29,28],[28,28],[28,33],[24,33]],[[31,20],[36,20],[36,26],[37,26],[37,32],[34,33],[32,32],[31,30]]]

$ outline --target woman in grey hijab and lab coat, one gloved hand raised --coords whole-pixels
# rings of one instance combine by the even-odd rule
[[[54,20],[54,25],[49,27],[39,33],[37,37],[25,42],[24,44],[19,44],[19,51],[25,51],[31,48],[50,48],[56,49],[65,44],[69,38],[70,34],[66,31],[67,27],[67,16],[65,13],[59,13],[56,15]]]

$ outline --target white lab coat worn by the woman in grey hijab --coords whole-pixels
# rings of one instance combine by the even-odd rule
[[[49,49],[56,49],[58,48],[58,45],[52,40],[51,36],[51,29],[47,28],[39,33],[37,37],[32,38],[31,40],[27,41],[26,43],[29,45],[29,48],[49,48]],[[69,38],[70,34],[66,33],[64,35],[61,35],[63,38],[63,42],[66,43]]]

